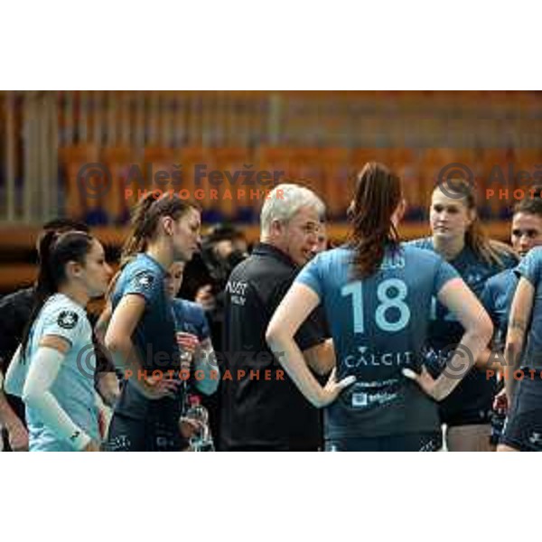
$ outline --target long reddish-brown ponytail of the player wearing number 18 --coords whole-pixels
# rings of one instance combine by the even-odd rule
[[[363,167],[349,209],[355,278],[372,275],[382,263],[386,248],[397,247],[399,238],[391,218],[401,198],[401,182],[386,166],[369,163]]]

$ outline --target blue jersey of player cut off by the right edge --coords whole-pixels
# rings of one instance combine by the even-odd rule
[[[542,247],[532,248],[516,268],[535,288],[527,346],[522,364],[532,369],[542,369]]]

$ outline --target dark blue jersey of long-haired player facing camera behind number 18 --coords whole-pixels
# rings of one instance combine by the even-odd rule
[[[409,245],[426,250],[435,251],[432,238],[421,238],[410,241]],[[480,299],[487,280],[504,268],[511,268],[517,265],[517,260],[508,255],[501,256],[503,266],[488,264],[482,257],[478,256],[472,248],[465,247],[448,263],[462,276],[463,281],[472,292]],[[436,299],[431,307],[431,325],[429,326],[428,354],[426,364],[428,369],[435,375],[444,366],[445,359],[441,359],[440,352],[446,347],[452,347],[461,341],[463,337],[463,325],[457,320],[453,313],[450,313],[443,304]],[[446,349],[446,351],[450,351]]]

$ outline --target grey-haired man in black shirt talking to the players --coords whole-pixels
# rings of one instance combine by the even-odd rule
[[[220,450],[317,450],[320,413],[285,374],[266,344],[266,328],[295,276],[313,256],[322,201],[296,184],[270,192],[260,216],[260,243],[226,286]],[[295,336],[305,360],[325,374],[334,365],[321,313]]]

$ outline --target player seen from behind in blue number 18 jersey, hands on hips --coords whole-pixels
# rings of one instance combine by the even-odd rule
[[[380,164],[367,164],[350,205],[350,242],[304,267],[266,332],[304,396],[314,406],[326,406],[327,450],[438,448],[435,400],[447,397],[464,372],[452,371],[459,353],[436,380],[422,367],[433,296],[458,314],[465,329],[463,349],[477,356],[491,338],[489,316],[453,267],[438,255],[399,243],[397,223],[404,209],[398,177]],[[337,382],[332,375],[324,388],[294,342],[295,332],[320,303],[341,378]]]

